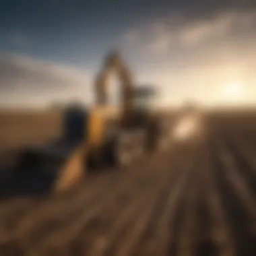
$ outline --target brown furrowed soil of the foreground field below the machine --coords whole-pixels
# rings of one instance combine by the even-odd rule
[[[200,141],[63,195],[2,199],[0,255],[256,255],[256,115],[204,121]]]

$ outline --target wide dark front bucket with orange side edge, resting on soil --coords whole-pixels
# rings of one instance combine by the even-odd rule
[[[86,148],[63,143],[28,148],[20,156],[18,169],[49,179],[48,191],[59,193],[79,183],[86,174]]]

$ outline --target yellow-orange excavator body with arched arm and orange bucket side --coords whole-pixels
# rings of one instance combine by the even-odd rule
[[[107,82],[110,73],[113,71],[119,75],[122,88],[121,106],[118,108],[111,108],[107,102]],[[71,143],[70,139],[59,144],[57,143],[57,146],[55,146],[56,149],[50,153],[45,149],[38,150],[40,156],[50,156],[51,159],[57,159],[55,162],[59,163],[57,179],[52,187],[53,191],[63,191],[83,179],[88,171],[89,159],[94,158],[97,162],[102,157],[104,158],[104,155],[108,154],[110,150],[113,150],[113,148],[110,150],[106,148],[106,144],[112,143],[111,145],[113,146],[113,142],[116,142],[115,139],[119,137],[119,132],[132,127],[134,123],[133,114],[135,113],[133,104],[134,85],[132,81],[131,73],[122,58],[117,53],[111,53],[106,58],[104,66],[96,77],[96,83],[94,84],[94,89],[96,90],[96,106],[84,110],[85,112],[82,114],[84,117],[82,115],[79,117],[79,119],[85,119],[84,127],[82,127],[84,129],[82,131],[84,135],[78,136],[75,143]],[[148,113],[146,112],[143,112],[143,117],[147,116],[147,119]],[[138,118],[139,121],[143,119],[141,117]],[[79,127],[81,123],[77,126],[81,128]],[[107,135],[108,132],[113,133],[113,135]],[[71,131],[71,137],[73,136],[72,133]],[[63,143],[65,144],[64,146]],[[60,153],[63,152],[65,146],[70,149],[65,154]],[[40,156],[36,159],[39,159]],[[28,158],[27,162],[31,159],[31,157]],[[23,162],[26,162],[26,160],[23,160]],[[43,160],[41,160],[41,163],[43,163]]]

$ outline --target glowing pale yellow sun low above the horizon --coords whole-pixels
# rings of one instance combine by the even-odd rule
[[[245,87],[243,84],[235,82],[224,86],[224,100],[228,102],[240,102],[245,96]]]

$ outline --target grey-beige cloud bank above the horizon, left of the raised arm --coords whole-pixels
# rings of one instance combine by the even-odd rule
[[[89,73],[21,55],[0,54],[1,104],[44,105],[51,100],[91,100]]]

